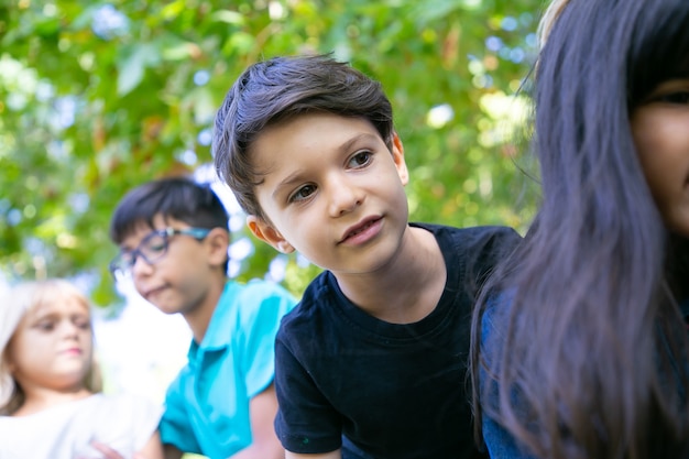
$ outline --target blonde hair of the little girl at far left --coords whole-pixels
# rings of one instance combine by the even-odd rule
[[[7,347],[20,321],[39,305],[73,297],[90,308],[88,298],[67,281],[52,278],[17,284],[0,295],[0,415],[14,413],[24,403],[24,393],[9,370]],[[91,392],[100,392],[102,381],[95,358],[84,380]]]

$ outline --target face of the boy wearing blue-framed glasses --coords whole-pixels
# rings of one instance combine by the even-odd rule
[[[153,228],[143,222],[135,228],[120,244],[121,250],[141,249],[140,244],[152,231],[183,230],[190,226],[158,214],[153,218]],[[215,307],[216,302],[207,302],[207,297],[218,278],[215,272],[225,266],[229,243],[226,233],[216,228],[200,241],[188,234],[171,236],[164,254],[154,262],[136,256],[131,275],[139,294],[165,314],[192,313],[206,303]]]

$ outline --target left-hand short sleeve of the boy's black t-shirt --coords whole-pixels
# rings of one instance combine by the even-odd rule
[[[322,453],[341,447],[340,415],[280,336],[275,345],[275,390],[280,405],[275,431],[286,450]]]

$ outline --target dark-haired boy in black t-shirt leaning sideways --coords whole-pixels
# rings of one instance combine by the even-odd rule
[[[484,457],[464,391],[471,312],[516,232],[409,225],[391,103],[329,56],[250,66],[212,145],[251,231],[327,270],[277,334],[286,457]]]

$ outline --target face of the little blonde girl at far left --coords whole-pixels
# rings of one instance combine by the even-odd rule
[[[67,295],[44,299],[26,312],[7,352],[10,372],[24,392],[81,389],[92,357],[88,305]]]

